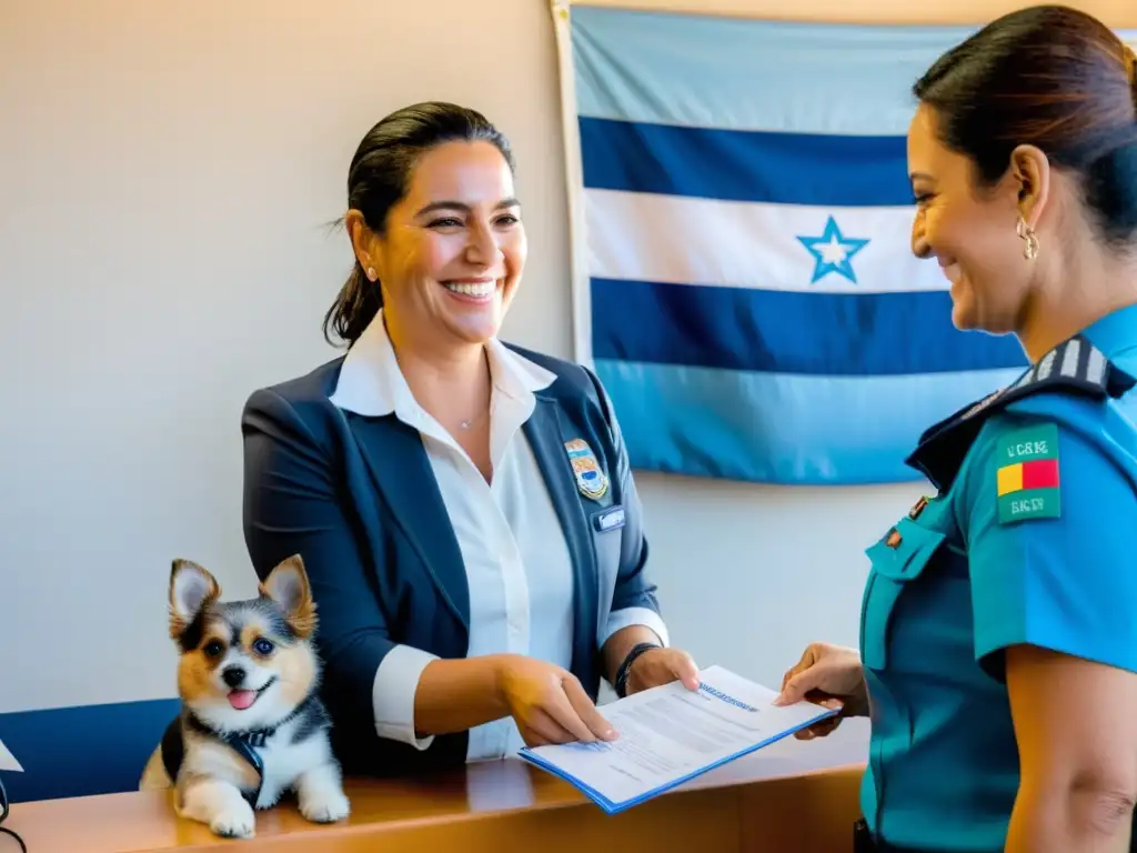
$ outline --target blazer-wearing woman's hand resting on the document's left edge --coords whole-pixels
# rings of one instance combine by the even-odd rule
[[[526,746],[617,737],[576,677],[561,666],[523,655],[504,655],[497,680]]]

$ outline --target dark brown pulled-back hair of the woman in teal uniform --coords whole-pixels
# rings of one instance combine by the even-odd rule
[[[1137,57],[1105,24],[1063,6],[1005,15],[915,83],[941,141],[993,185],[1020,144],[1080,180],[1104,241],[1137,237]]]

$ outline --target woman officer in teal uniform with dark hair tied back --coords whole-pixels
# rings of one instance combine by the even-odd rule
[[[803,696],[869,713],[864,851],[1124,851],[1137,798],[1137,60],[1016,11],[914,88],[913,250],[1031,366],[932,426],[935,496],[868,549],[860,649]],[[820,728],[810,732],[824,734]]]

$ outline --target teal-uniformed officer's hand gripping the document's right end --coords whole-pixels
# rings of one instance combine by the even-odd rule
[[[792,705],[803,699],[839,709],[840,713],[796,732],[799,740],[829,735],[846,717],[868,715],[869,695],[856,649],[811,643],[802,660],[786,671],[774,704]]]

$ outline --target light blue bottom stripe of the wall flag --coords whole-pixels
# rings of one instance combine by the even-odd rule
[[[795,485],[920,479],[920,433],[1019,370],[830,378],[597,361],[633,467]]]

